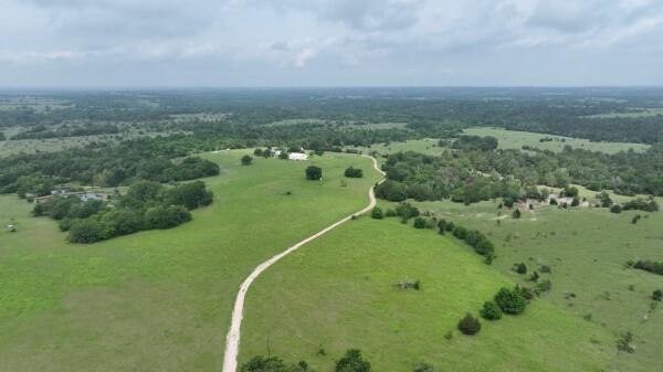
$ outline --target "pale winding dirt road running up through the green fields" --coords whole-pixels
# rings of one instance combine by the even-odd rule
[[[377,170],[380,174],[386,176],[385,172],[380,169],[380,167],[378,167],[378,161],[375,158],[365,156],[365,155],[362,155],[362,157],[371,159],[373,162],[375,170]],[[385,181],[385,179],[380,180],[378,183],[382,183],[383,181]],[[348,215],[347,217],[345,217],[338,222],[335,222],[334,224],[323,228],[322,231],[308,236],[307,238],[301,241],[299,243],[291,246],[290,248],[283,251],[282,253],[280,253],[280,254],[273,256],[272,258],[265,261],[264,263],[257,265],[257,267],[255,267],[253,269],[253,272],[251,272],[249,277],[240,286],[240,291],[238,293],[238,297],[235,299],[235,305],[234,305],[234,308],[232,309],[232,320],[230,323],[230,330],[228,331],[228,337],[225,338],[225,352],[223,354],[223,372],[236,372],[236,369],[238,369],[238,353],[240,351],[240,328],[242,327],[242,318],[244,316],[244,298],[246,297],[246,291],[249,291],[249,287],[251,287],[251,284],[253,283],[253,280],[255,280],[255,278],[257,278],[270,266],[274,265],[281,258],[287,256],[288,254],[297,251],[304,244],[306,244],[313,240],[316,240],[316,238],[320,237],[322,235],[324,235],[325,233],[338,227],[339,225],[349,221],[354,215],[364,214],[364,213],[372,210],[373,206],[376,206],[376,195],[375,195],[373,189],[375,188],[371,187],[368,190],[368,199],[369,199],[368,206],[366,206],[361,211],[352,213],[352,214]]]

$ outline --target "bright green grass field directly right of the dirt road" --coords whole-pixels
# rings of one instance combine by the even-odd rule
[[[610,365],[611,334],[546,300],[517,317],[482,320],[474,337],[461,334],[461,317],[476,316],[499,287],[514,285],[480,258],[452,237],[397,219],[350,221],[257,278],[245,304],[240,359],[270,351],[333,371],[346,349],[359,348],[375,371],[411,371],[422,361],[459,372]],[[406,279],[421,280],[422,289],[394,287]]]

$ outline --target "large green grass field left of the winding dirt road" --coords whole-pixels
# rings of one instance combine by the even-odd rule
[[[215,201],[172,230],[65,243],[31,204],[0,196],[0,371],[219,371],[240,283],[262,261],[368,203],[368,159],[208,153]],[[324,181],[304,178],[318,164]],[[365,179],[346,179],[354,164]],[[291,191],[291,195],[286,192]]]

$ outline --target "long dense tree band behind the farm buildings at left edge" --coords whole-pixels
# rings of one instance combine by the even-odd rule
[[[117,187],[136,180],[169,182],[219,174],[219,166],[206,159],[170,160],[187,152],[177,142],[152,139],[0,158],[0,192],[45,195],[54,184],[67,182]]]

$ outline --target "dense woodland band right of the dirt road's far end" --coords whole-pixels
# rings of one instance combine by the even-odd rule
[[[565,188],[569,183],[629,195],[663,195],[660,163],[663,146],[645,153],[612,156],[571,148],[560,153],[456,150],[439,157],[399,152],[388,156],[382,167],[388,180],[376,189],[376,195],[390,201],[451,199],[466,204],[494,198],[543,200],[547,194],[537,185]]]

